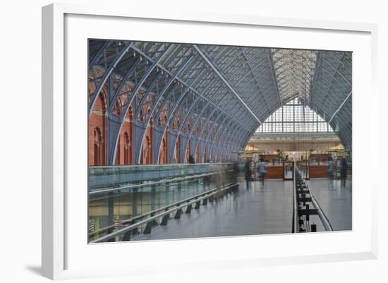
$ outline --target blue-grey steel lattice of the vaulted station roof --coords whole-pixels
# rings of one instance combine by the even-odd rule
[[[198,131],[203,140],[240,149],[270,114],[295,97],[351,148],[351,52],[90,40],[89,78],[90,113],[109,85],[113,158],[114,140],[131,105],[135,121],[145,126],[168,112],[161,133],[185,133],[190,140]],[[150,112],[141,111],[145,104]],[[135,137],[139,148],[143,133]]]

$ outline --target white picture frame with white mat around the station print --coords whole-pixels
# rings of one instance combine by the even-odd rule
[[[358,107],[364,104],[364,97],[360,95],[361,92],[368,92],[368,100],[377,102],[376,79],[377,79],[377,25],[368,23],[340,23],[324,20],[301,20],[289,18],[263,18],[255,15],[229,15],[229,14],[211,14],[211,13],[194,13],[190,11],[182,11],[182,13],[169,12],[168,9],[163,11],[128,11],[125,7],[119,6],[80,6],[77,4],[51,4],[42,8],[42,275],[51,279],[66,279],[75,277],[93,277],[93,276],[117,276],[117,275],[141,275],[147,270],[147,267],[152,267],[154,272],[164,272],[164,265],[157,265],[155,261],[146,260],[147,257],[143,253],[157,251],[158,253],[166,253],[173,264],[181,267],[181,270],[189,270],[193,266],[200,269],[207,268],[230,268],[262,266],[262,265],[281,265],[289,263],[310,263],[310,262],[329,262],[337,260],[360,260],[377,258],[377,187],[379,184],[370,183],[367,185],[368,191],[363,195],[363,200],[358,193],[358,186],[364,186],[365,180],[358,177],[353,180],[354,183],[354,208],[353,217],[356,217],[356,226],[351,232],[342,232],[334,234],[315,234],[315,240],[312,240],[311,235],[278,235],[278,236],[247,236],[247,237],[229,237],[217,239],[188,239],[178,241],[154,241],[143,242],[136,244],[128,243],[111,243],[103,245],[87,245],[87,239],[83,234],[78,234],[80,229],[76,228],[73,219],[74,212],[84,215],[87,209],[87,204],[83,203],[83,198],[76,198],[76,193],[69,191],[72,189],[72,184],[79,184],[81,190],[85,184],[87,176],[75,176],[71,171],[75,164],[71,167],[73,158],[71,155],[77,155],[85,150],[75,149],[71,142],[71,137],[75,136],[75,132],[83,131],[82,125],[80,128],[72,127],[74,125],[74,117],[71,118],[69,113],[82,113],[86,108],[83,104],[77,104],[77,100],[66,97],[66,91],[72,90],[73,85],[66,85],[72,80],[72,76],[83,76],[83,68],[80,68],[80,73],[77,70],[68,70],[68,66],[80,64],[78,61],[66,61],[65,56],[73,56],[71,44],[75,41],[68,40],[68,36],[72,36],[74,26],[79,27],[80,37],[85,38],[85,26],[80,25],[87,21],[93,21],[98,25],[104,22],[104,26],[115,25],[116,21],[134,20],[137,24],[158,23],[169,25],[171,28],[178,28],[178,25],[184,24],[189,29],[193,28],[238,28],[242,32],[250,29],[268,29],[271,32],[280,32],[282,29],[287,29],[288,32],[308,32],[313,36],[315,32],[320,32],[320,36],[337,36],[342,37],[345,34],[348,38],[357,37],[355,42],[360,42],[360,46],[354,46],[360,56],[365,59],[365,69],[358,73],[360,62],[355,60],[354,67],[356,71],[354,79],[360,79],[362,82],[355,81],[354,93],[356,99],[353,100],[353,110],[355,116],[353,117],[353,140],[354,148],[354,171],[358,172],[360,166],[358,164],[363,162],[362,155],[357,154],[363,146],[372,147],[372,140],[377,140],[377,125],[371,121],[377,121],[377,108],[372,103],[364,105],[366,115],[365,119],[359,119],[356,116]],[[73,21],[73,22],[71,22]],[[134,24],[134,23],[133,23]],[[66,29],[68,25],[68,29]],[[208,27],[209,26],[209,27]],[[250,30],[252,31],[252,30]],[[109,33],[109,30],[100,30],[100,38],[122,38],[127,39],[129,35],[123,30]],[[93,35],[97,33],[92,32]],[[145,32],[147,33],[147,32]],[[178,33],[178,32],[177,32]],[[210,37],[215,37],[214,33],[202,32],[202,42],[206,43]],[[166,37],[168,34],[159,35],[159,38]],[[192,33],[191,35],[194,34]],[[92,35],[87,35],[92,37]],[[135,40],[147,39],[147,35],[132,35],[136,36]],[[144,36],[144,38],[143,38]],[[142,37],[142,38],[140,38]],[[358,38],[359,37],[359,38]],[[183,37],[182,37],[183,38]],[[154,38],[152,38],[154,39]],[[67,41],[68,40],[68,41]],[[168,40],[179,40],[177,38],[169,37]],[[195,35],[195,42],[200,42],[200,37]],[[213,39],[216,40],[217,39]],[[167,41],[167,40],[166,40]],[[221,40],[222,41],[222,40]],[[218,41],[220,42],[220,41]],[[351,42],[351,40],[349,41]],[[336,44],[351,44],[349,42],[339,42]],[[231,43],[233,42],[225,42]],[[333,42],[334,43],[334,42]],[[255,42],[249,42],[256,46]],[[272,43],[272,44],[277,44]],[[279,42],[281,46],[281,42]],[[86,42],[82,47],[86,46]],[[80,47],[80,53],[85,54],[86,49]],[[289,47],[299,47],[298,44],[290,42]],[[312,42],[310,46],[303,45],[305,48],[314,48],[315,43]],[[334,47],[332,47],[334,48]],[[364,51],[362,49],[365,49]],[[353,49],[348,49],[354,52]],[[70,52],[70,54],[69,54]],[[82,55],[81,54],[81,55]],[[357,55],[358,56],[358,55]],[[67,62],[67,63],[66,63]],[[82,61],[81,61],[82,62]],[[68,64],[68,65],[66,65]],[[82,67],[82,66],[81,66]],[[67,69],[66,69],[67,68]],[[69,73],[70,72],[70,73]],[[73,75],[74,73],[74,75]],[[360,75],[370,77],[364,78]],[[365,81],[364,81],[365,80]],[[86,80],[85,85],[78,85],[78,89],[85,90],[86,94]],[[74,84],[75,85],[75,84]],[[360,91],[361,90],[361,91]],[[85,95],[86,99],[86,95]],[[78,117],[82,120],[82,117]],[[82,123],[81,123],[82,124]],[[370,135],[360,136],[360,131],[357,131],[356,126],[369,128]],[[72,132],[74,131],[74,133]],[[85,134],[86,131],[85,131]],[[69,140],[70,138],[70,140]],[[80,139],[82,141],[82,138]],[[82,142],[81,142],[82,143]],[[365,150],[365,155],[368,150]],[[370,155],[372,156],[372,155]],[[376,159],[377,157],[371,157]],[[85,168],[84,168],[85,169]],[[85,171],[80,170],[80,174]],[[370,171],[370,176],[375,176],[375,172]],[[69,177],[70,176],[70,177]],[[84,179],[82,179],[84,178]],[[82,179],[82,180],[81,180]],[[372,178],[377,180],[377,178]],[[359,183],[356,183],[356,181]],[[86,188],[85,188],[86,192]],[[79,192],[78,192],[79,193]],[[79,200],[79,201],[78,201]],[[363,209],[360,210],[360,201],[365,202]],[[72,210],[68,210],[68,205],[71,203]],[[83,205],[85,207],[83,207]],[[83,219],[83,217],[80,217]],[[361,220],[359,220],[361,219]],[[360,223],[358,223],[360,221]],[[85,231],[87,222],[83,222]],[[363,224],[363,225],[361,225]],[[74,227],[73,227],[74,226]],[[362,226],[362,227],[361,227]],[[365,227],[364,227],[365,226]],[[77,233],[69,233],[75,231]],[[279,241],[281,239],[281,241]],[[77,246],[75,242],[79,241],[82,248]],[[296,249],[289,248],[298,246],[301,242],[320,241],[321,247],[312,248],[305,253],[298,253]],[[265,243],[262,243],[265,242]],[[266,251],[265,248],[260,250],[260,255],[255,251],[255,248],[247,249],[247,251],[240,251],[241,245],[245,246],[260,246],[268,244],[284,243],[283,246],[278,246],[279,251]],[[327,243],[334,243],[334,247],[329,248]],[[325,246],[326,243],[326,246]],[[344,243],[341,246],[341,243]],[[347,244],[345,244],[347,243]],[[336,246],[337,244],[337,246]],[[346,246],[347,245],[347,246]],[[228,246],[229,253],[223,253],[223,249]],[[78,248],[76,248],[78,247]],[[202,247],[214,249],[214,256],[209,256],[206,260],[200,258],[200,253],[196,254],[195,250]],[[100,254],[105,257],[119,253],[123,249],[131,249],[130,251],[136,255],[138,259],[143,259],[143,263],[135,263],[131,267],[125,265],[118,265],[116,261],[109,261],[103,263],[102,266],[92,267],[94,263],[93,255]],[[327,249],[327,251],[325,251]],[[86,251],[87,250],[87,251]],[[90,250],[90,253],[89,253]],[[193,255],[190,260],[176,260],[174,258],[181,258],[182,251],[186,250]],[[250,251],[249,251],[250,250]],[[85,251],[85,253],[83,253]],[[89,253],[88,255],[86,255]],[[79,258],[79,262],[75,260]],[[135,258],[135,257],[133,257]],[[181,258],[182,259],[182,258]],[[86,264],[90,260],[90,265]],[[139,260],[141,261],[141,260]],[[84,265],[81,262],[85,263]],[[94,263],[95,264],[95,263]],[[171,264],[171,262],[169,263]],[[102,268],[104,267],[104,268]]]

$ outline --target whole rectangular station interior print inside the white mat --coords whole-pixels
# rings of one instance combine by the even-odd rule
[[[89,242],[352,229],[352,53],[88,42]]]

